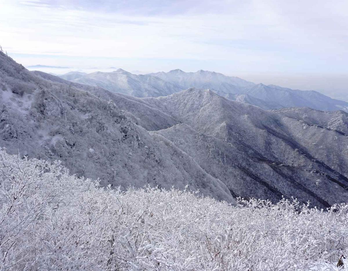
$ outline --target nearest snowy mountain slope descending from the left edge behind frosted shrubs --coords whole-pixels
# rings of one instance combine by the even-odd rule
[[[187,153],[136,125],[113,102],[117,95],[45,80],[2,53],[0,77],[0,146],[8,152],[59,159],[71,173],[100,177],[113,187],[189,184],[204,194],[233,201],[226,185]]]

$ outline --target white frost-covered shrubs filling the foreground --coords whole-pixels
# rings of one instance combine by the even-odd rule
[[[126,192],[0,151],[1,270],[335,270],[348,205]]]

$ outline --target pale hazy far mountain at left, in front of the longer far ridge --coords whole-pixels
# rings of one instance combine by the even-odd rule
[[[165,96],[184,89],[175,83],[164,81],[155,76],[136,75],[122,69],[113,72],[93,72],[71,81],[135,97]]]

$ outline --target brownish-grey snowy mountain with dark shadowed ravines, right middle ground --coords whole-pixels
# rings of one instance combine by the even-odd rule
[[[185,123],[154,133],[195,157],[234,195],[292,195],[318,206],[347,197],[348,137],[342,133],[209,90],[145,100]]]

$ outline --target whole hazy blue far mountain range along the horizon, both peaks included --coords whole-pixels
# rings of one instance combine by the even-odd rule
[[[113,72],[90,74],[70,72],[60,75],[60,77],[135,97],[167,96],[190,87],[197,87],[211,89],[228,99],[259,106],[265,110],[310,107],[322,111],[343,110],[348,112],[348,102],[332,99],[317,91],[255,84],[238,77],[203,70],[184,72],[176,69],[169,72],[136,75],[118,69]]]

